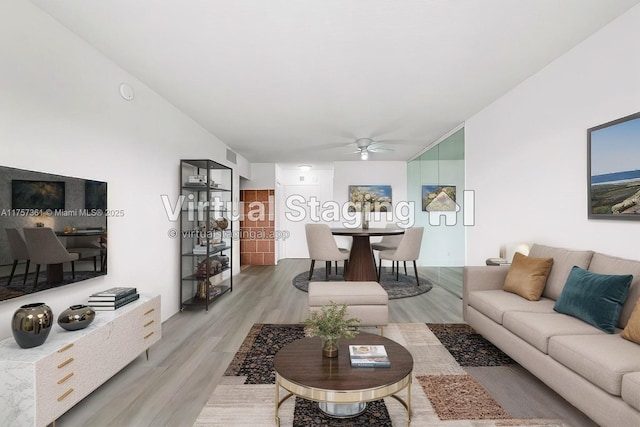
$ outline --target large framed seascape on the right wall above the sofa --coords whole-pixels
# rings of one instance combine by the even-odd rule
[[[640,113],[587,130],[590,219],[640,219]]]

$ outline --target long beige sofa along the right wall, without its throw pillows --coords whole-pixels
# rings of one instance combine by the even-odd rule
[[[537,244],[529,257],[553,258],[537,301],[503,290],[511,266],[465,267],[465,321],[596,423],[640,426],[640,344],[620,334],[640,305],[640,261]],[[614,333],[554,310],[573,266],[633,275]]]

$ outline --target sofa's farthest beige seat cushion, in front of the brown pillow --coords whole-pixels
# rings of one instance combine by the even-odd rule
[[[507,311],[553,313],[554,303],[555,301],[549,298],[540,298],[539,301],[529,301],[501,289],[469,293],[469,305],[499,324],[502,324],[502,317]]]

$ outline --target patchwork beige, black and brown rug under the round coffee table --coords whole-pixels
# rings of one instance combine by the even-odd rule
[[[438,328],[440,336],[477,335],[470,328],[448,325]],[[468,328],[468,327],[466,327]],[[476,426],[565,426],[558,420],[514,419],[456,361],[426,324],[389,324],[385,336],[405,346],[414,359],[411,386],[413,427]],[[194,426],[274,425],[273,356],[283,346],[304,336],[301,325],[256,324],[235,354],[225,376],[210,396]],[[481,338],[481,337],[480,337]],[[475,339],[475,338],[473,338]],[[445,339],[445,341],[447,341]],[[486,346],[474,346],[470,354],[485,353]],[[490,348],[490,347],[489,347]],[[496,352],[500,350],[495,349]],[[494,350],[489,350],[493,353]],[[498,353],[483,363],[509,361]],[[404,398],[405,392],[400,395]],[[281,393],[281,397],[283,394]],[[393,398],[369,403],[367,412],[338,420],[322,414],[317,405],[303,399],[288,399],[280,408],[283,426],[404,426],[405,408]]]

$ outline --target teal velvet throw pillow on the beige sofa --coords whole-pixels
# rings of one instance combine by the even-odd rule
[[[612,334],[632,279],[631,274],[597,274],[574,266],[553,309]]]

